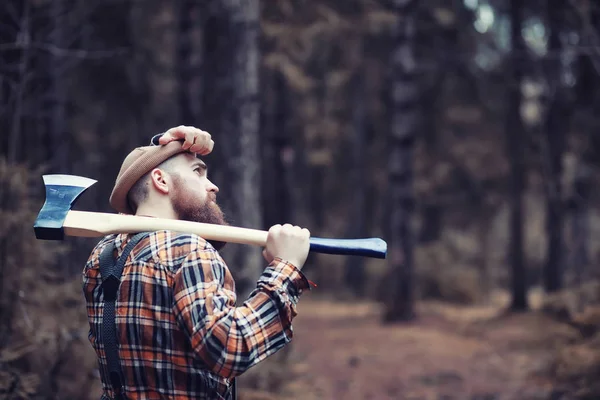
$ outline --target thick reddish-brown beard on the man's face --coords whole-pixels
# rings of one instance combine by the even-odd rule
[[[205,224],[229,225],[225,220],[225,216],[221,208],[212,201],[211,197],[207,197],[206,201],[198,204],[185,190],[185,184],[178,176],[174,178],[175,187],[177,188],[172,195],[171,201],[173,210],[177,213],[177,217],[183,221],[201,222]],[[217,250],[222,249],[226,242],[216,240],[207,240]]]

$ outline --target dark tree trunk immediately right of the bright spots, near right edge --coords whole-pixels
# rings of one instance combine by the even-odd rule
[[[552,2],[548,2],[552,3]],[[562,158],[565,149],[566,131],[569,125],[570,104],[567,93],[561,84],[560,29],[562,27],[562,7],[548,4],[550,38],[546,82],[550,92],[550,104],[546,113],[546,235],[548,248],[544,268],[544,289],[547,293],[562,288],[563,276],[563,199],[562,199]]]

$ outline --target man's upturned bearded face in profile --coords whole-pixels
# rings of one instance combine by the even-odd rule
[[[171,173],[171,203],[179,219],[227,225],[217,205],[219,188],[207,176],[206,164],[192,154],[178,156],[177,170]]]

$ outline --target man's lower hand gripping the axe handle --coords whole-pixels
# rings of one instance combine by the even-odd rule
[[[302,269],[310,249],[310,232],[306,228],[290,224],[273,225],[267,234],[267,245],[263,257],[267,262],[279,257]]]

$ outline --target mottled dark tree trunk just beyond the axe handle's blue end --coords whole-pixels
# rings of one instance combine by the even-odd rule
[[[389,138],[387,214],[389,263],[395,290],[386,304],[385,321],[414,317],[413,237],[410,216],[414,208],[413,153],[423,122],[420,71],[416,60],[418,1],[396,2],[399,17],[392,52],[391,135]]]

